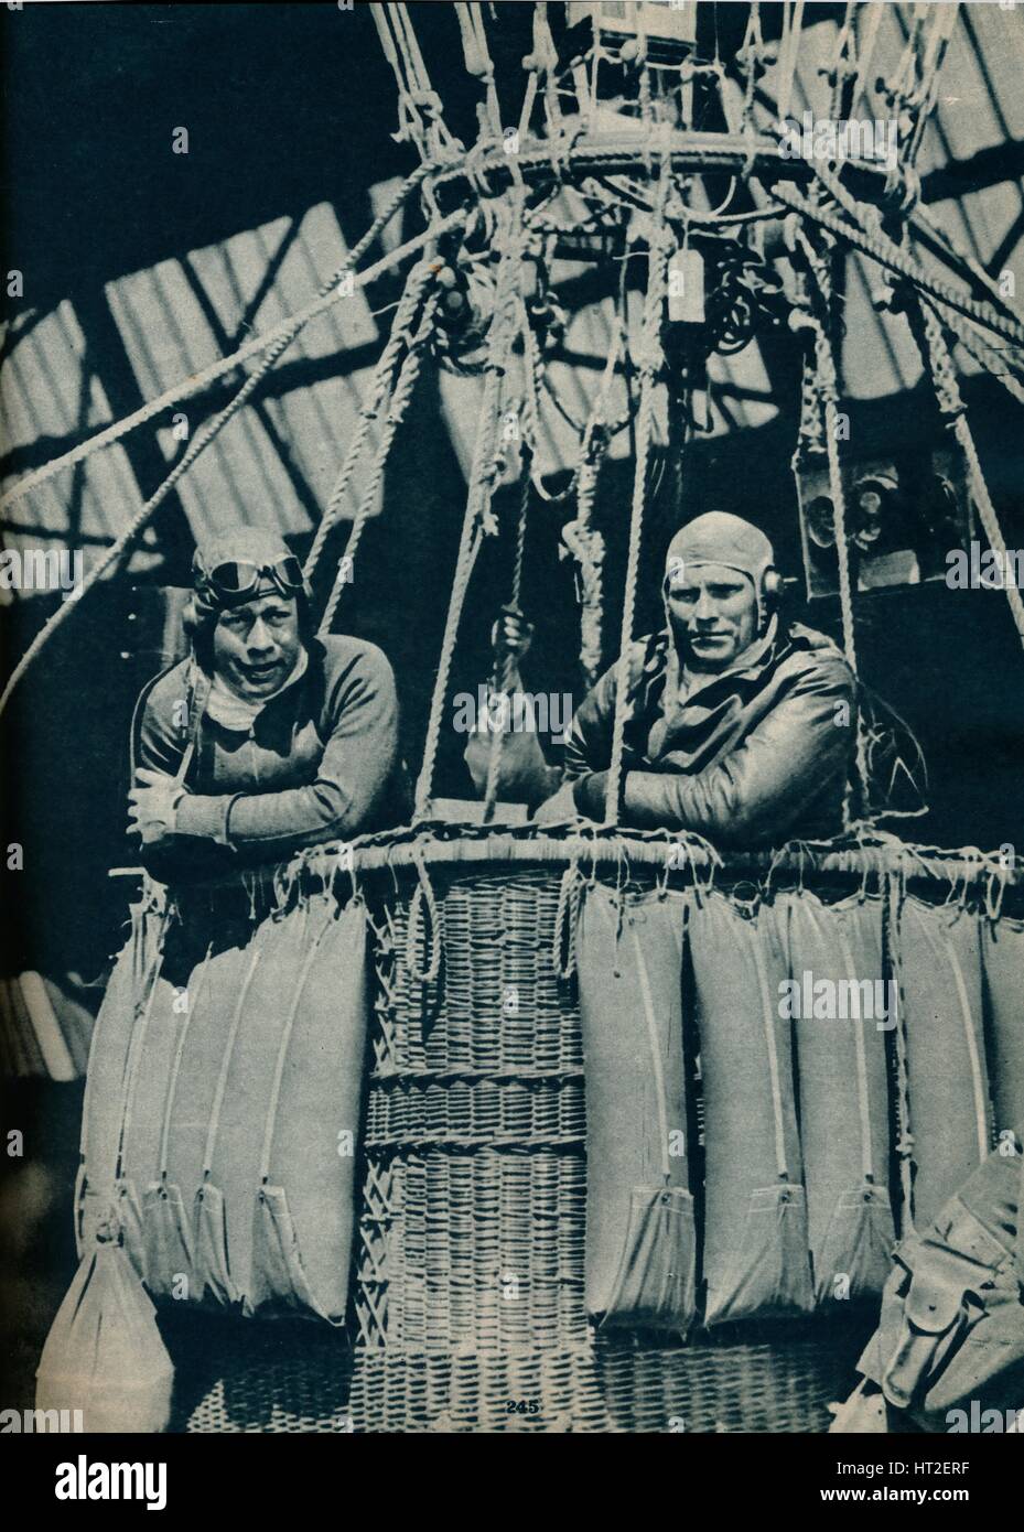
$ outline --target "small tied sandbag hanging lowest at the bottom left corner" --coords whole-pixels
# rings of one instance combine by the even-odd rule
[[[172,1383],[170,1357],[138,1275],[117,1242],[98,1241],[83,1256],[46,1337],[35,1408],[80,1409],[84,1431],[162,1431]]]

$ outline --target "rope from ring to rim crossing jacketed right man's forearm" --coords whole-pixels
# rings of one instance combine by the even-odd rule
[[[636,584],[639,579],[641,532],[644,521],[644,495],[647,487],[647,460],[650,455],[651,421],[655,411],[655,383],[661,363],[661,319],[665,293],[665,268],[668,248],[664,231],[664,204],[668,187],[668,167],[661,165],[655,227],[648,251],[647,302],[644,305],[641,397],[636,411],[636,472],[633,475],[633,502],[630,507],[630,541],[625,562],[625,593],[622,597],[622,630],[619,636],[619,662],[615,686],[615,722],[612,728],[612,761],[604,798],[604,823],[618,824],[619,789],[622,784],[622,749],[625,741],[625,715],[630,706],[633,616],[636,611]]]

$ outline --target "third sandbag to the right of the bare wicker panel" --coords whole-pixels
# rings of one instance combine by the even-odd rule
[[[891,1270],[886,1031],[894,987],[883,974],[881,899],[825,904],[809,890],[776,896],[793,990],[808,1239],[819,1305],[878,1295]]]

